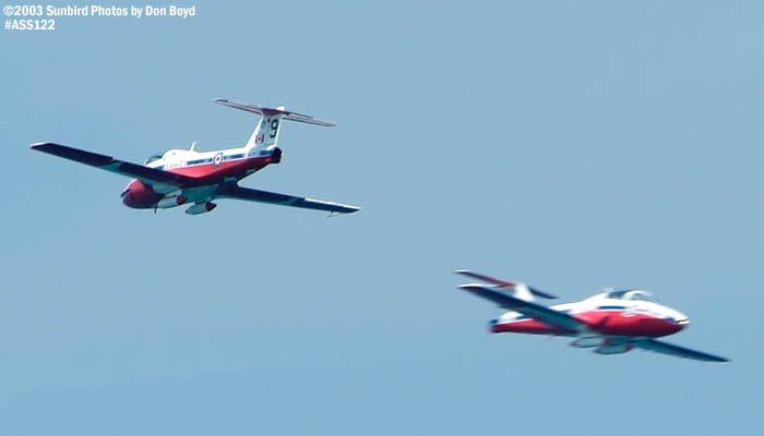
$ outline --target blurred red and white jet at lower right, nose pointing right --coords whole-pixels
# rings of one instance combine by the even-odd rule
[[[683,314],[658,304],[649,292],[631,289],[609,291],[586,300],[546,306],[534,296],[557,296],[525,283],[459,269],[456,272],[487,282],[459,289],[497,303],[504,312],[490,322],[494,334],[520,332],[574,337],[571,346],[593,348],[599,354],[620,354],[634,348],[705,362],[725,358],[690,350],[655,338],[676,334],[690,324]]]

